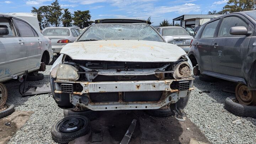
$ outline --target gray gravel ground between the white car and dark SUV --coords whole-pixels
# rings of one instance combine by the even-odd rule
[[[225,98],[235,94],[223,92],[231,82],[203,82],[195,76],[195,90],[191,92],[185,112],[187,117],[212,143],[252,144],[256,143],[256,119],[236,116],[224,108]],[[199,91],[209,90],[210,93],[199,94]],[[240,119],[242,124],[233,124]]]

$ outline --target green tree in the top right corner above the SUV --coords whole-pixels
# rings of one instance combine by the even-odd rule
[[[229,0],[227,5],[223,7],[222,12],[224,14],[255,10],[256,0]]]

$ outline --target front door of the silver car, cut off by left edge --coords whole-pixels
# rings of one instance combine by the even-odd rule
[[[0,36],[0,79],[26,70],[26,48],[11,17],[0,16],[0,26],[7,26],[8,35]]]

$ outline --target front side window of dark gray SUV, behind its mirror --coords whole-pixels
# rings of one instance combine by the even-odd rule
[[[240,17],[236,17],[236,16],[225,17],[220,25],[218,37],[244,36],[244,35],[233,35],[229,33],[230,28],[235,26],[244,26],[247,28],[248,24],[244,20],[242,20]]]

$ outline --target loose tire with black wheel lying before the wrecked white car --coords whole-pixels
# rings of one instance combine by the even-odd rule
[[[73,115],[55,122],[51,129],[51,135],[53,140],[63,144],[88,134],[90,130],[91,123],[87,117]]]

